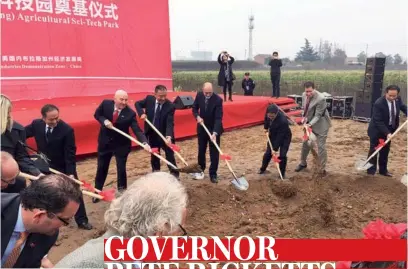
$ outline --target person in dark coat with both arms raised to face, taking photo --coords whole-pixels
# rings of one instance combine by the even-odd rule
[[[235,75],[232,72],[232,64],[235,59],[226,51],[222,51],[218,55],[218,63],[220,64],[220,71],[218,72],[218,86],[223,87],[224,102],[227,101],[227,88],[229,94],[229,101],[232,101],[232,85],[235,80]]]

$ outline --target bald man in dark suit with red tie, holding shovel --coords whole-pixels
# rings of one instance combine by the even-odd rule
[[[129,134],[132,128],[137,140],[142,142],[146,150],[151,150],[136,121],[136,113],[128,106],[128,94],[124,90],[118,90],[113,100],[103,100],[94,115],[101,124],[98,137],[98,166],[95,177],[95,188],[101,190],[108,175],[109,164],[113,155],[116,159],[117,186],[119,191],[127,188],[126,162],[131,149],[129,138],[115,132],[112,127]],[[98,199],[92,199],[94,203]]]

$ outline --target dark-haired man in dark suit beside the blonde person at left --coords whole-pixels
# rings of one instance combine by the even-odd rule
[[[60,119],[55,105],[44,105],[41,116],[25,127],[27,138],[34,137],[38,151],[47,156],[51,168],[78,179],[74,129]],[[82,197],[75,221],[81,229],[92,229]]]

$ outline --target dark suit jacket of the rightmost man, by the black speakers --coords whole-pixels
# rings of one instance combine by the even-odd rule
[[[396,127],[399,126],[399,114],[402,111],[405,115],[407,115],[407,106],[402,102],[401,97],[398,97],[395,100],[395,121]],[[387,99],[385,96],[382,96],[375,101],[373,105],[373,115],[371,121],[368,125],[367,133],[370,137],[387,137],[389,133],[394,132],[395,130],[390,130],[389,127],[390,122],[390,112],[388,108]]]

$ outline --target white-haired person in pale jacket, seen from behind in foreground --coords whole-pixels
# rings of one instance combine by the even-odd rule
[[[105,268],[104,239],[111,236],[186,236],[182,226],[186,206],[186,190],[173,175],[155,172],[142,176],[110,204],[105,212],[106,233],[71,252],[55,267]]]

